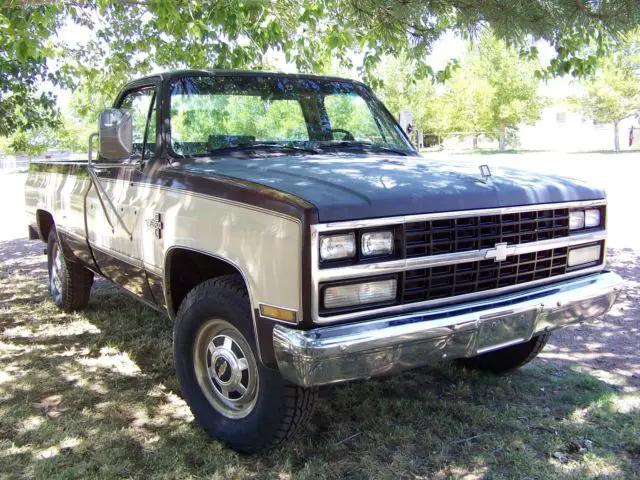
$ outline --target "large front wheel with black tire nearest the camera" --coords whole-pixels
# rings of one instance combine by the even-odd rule
[[[231,346],[225,350],[227,338]],[[276,447],[291,440],[311,416],[316,390],[293,385],[260,363],[249,296],[238,275],[207,280],[189,292],[176,315],[173,349],[178,380],[193,415],[209,436],[234,450],[251,453]],[[233,355],[218,369],[216,362],[229,351]],[[240,362],[255,366],[255,371],[245,367],[246,377],[244,370],[237,377],[238,369],[230,365]],[[233,385],[230,393],[221,389],[222,380],[228,380],[223,378],[227,368],[244,393]],[[255,392],[254,397],[247,392]],[[228,398],[231,395],[239,398]]]

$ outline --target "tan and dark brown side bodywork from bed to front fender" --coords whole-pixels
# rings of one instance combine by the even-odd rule
[[[147,168],[95,165],[112,212],[86,163],[33,163],[25,185],[31,227],[44,239],[43,219],[53,219],[67,258],[172,317],[171,259],[188,250],[242,275],[258,338],[270,338],[274,323],[259,318],[261,304],[292,310],[302,320],[303,232],[314,215],[309,204],[249,182]],[[271,342],[259,342],[259,349],[271,363]]]

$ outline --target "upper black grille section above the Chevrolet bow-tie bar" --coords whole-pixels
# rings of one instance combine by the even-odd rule
[[[569,209],[426,220],[405,225],[407,258],[550,240],[569,235]]]

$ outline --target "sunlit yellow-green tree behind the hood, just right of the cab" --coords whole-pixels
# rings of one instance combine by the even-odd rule
[[[508,129],[540,117],[544,101],[534,62],[489,32],[470,46],[444,84],[413,80],[415,68],[406,59],[385,58],[377,72],[383,82],[380,94],[392,111],[412,110],[415,125],[425,131],[438,136],[469,133],[474,147],[485,133],[499,138],[504,150]]]

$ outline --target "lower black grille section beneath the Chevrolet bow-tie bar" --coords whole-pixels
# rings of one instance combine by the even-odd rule
[[[562,275],[567,271],[567,248],[507,257],[502,262],[481,260],[403,272],[401,303],[464,295]]]

